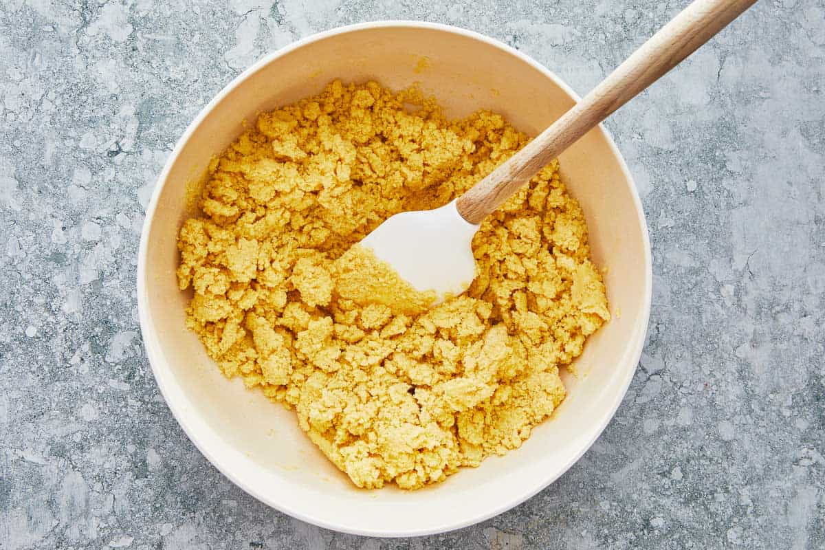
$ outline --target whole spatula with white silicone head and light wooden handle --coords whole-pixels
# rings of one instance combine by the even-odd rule
[[[724,29],[756,0],[696,0],[624,63],[464,195],[433,210],[403,212],[381,223],[361,245],[415,289],[439,299],[461,294],[475,276],[470,244],[482,220],[516,193],[545,164],[625,105]]]

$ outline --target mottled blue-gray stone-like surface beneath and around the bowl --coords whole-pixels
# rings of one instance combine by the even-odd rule
[[[601,439],[516,509],[395,541],[290,519],[192,446],[141,346],[153,183],[255,59],[443,21],[586,92],[684,3],[3,0],[0,548],[823,548],[823,0],[762,0],[607,122],[653,239],[648,344]]]

